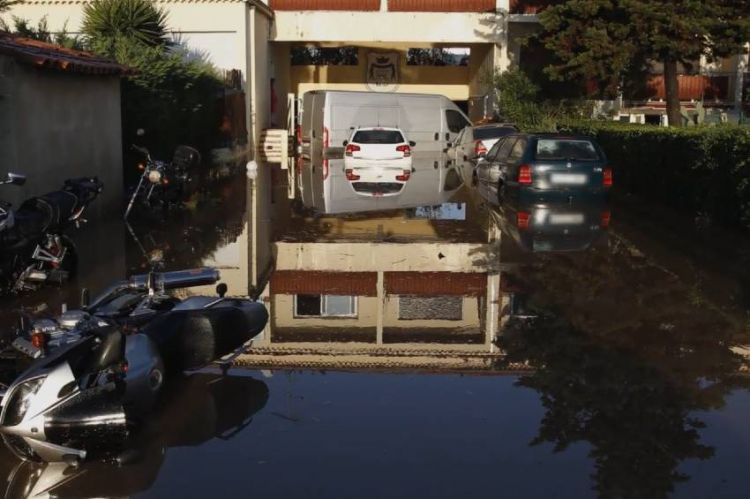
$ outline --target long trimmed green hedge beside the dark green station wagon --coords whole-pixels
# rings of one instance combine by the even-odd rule
[[[596,138],[614,169],[616,192],[750,227],[750,127],[587,122],[564,128]]]

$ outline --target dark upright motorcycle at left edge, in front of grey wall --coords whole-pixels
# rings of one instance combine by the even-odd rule
[[[26,177],[9,173],[0,185],[23,185]],[[86,220],[88,205],[102,192],[96,177],[65,181],[59,191],[24,201],[17,210],[0,202],[0,293],[64,282],[75,271],[75,246],[65,234]]]

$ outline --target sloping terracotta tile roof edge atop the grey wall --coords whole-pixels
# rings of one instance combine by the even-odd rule
[[[89,52],[0,32],[0,55],[38,68],[91,75],[124,75],[133,72],[109,59]]]

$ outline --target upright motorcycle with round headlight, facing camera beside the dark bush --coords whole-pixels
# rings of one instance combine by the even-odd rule
[[[170,204],[181,202],[191,180],[190,173],[201,163],[200,153],[190,146],[178,146],[171,162],[155,160],[145,147],[132,146],[141,153],[144,161],[138,164],[142,171],[123,218],[127,220],[137,200],[148,207],[161,205],[167,208]]]

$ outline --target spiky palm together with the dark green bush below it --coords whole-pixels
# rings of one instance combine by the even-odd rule
[[[213,146],[221,81],[207,62],[169,38],[166,14],[151,0],[95,0],[84,7],[83,35],[93,52],[134,69],[122,85],[123,143],[146,130],[152,152],[179,143]]]

